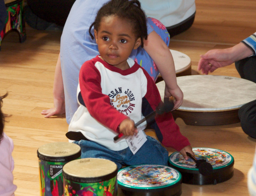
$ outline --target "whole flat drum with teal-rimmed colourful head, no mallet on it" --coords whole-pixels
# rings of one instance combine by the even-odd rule
[[[120,169],[118,187],[125,196],[179,196],[181,174],[163,165],[134,165]]]

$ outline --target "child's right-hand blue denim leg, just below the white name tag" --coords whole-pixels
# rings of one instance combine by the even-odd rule
[[[125,152],[124,164],[155,164],[168,166],[168,151],[156,139],[147,136],[147,141],[133,155],[132,151],[127,148]]]

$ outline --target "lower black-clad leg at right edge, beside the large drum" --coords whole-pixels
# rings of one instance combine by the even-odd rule
[[[240,107],[238,116],[244,133],[256,138],[256,100]]]

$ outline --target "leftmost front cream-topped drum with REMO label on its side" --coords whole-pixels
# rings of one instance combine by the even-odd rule
[[[81,148],[74,143],[54,142],[39,147],[40,196],[63,196],[62,168],[80,156]]]

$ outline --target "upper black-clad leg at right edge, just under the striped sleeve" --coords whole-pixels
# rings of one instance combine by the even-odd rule
[[[256,56],[235,62],[235,68],[237,68],[241,78],[256,83]]]

